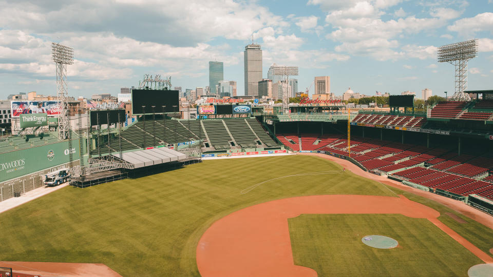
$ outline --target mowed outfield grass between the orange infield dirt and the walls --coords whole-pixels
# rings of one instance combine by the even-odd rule
[[[349,171],[273,180],[240,193],[280,176],[339,169],[319,157],[255,157],[204,161],[85,189],[63,188],[0,214],[0,260],[104,263],[124,276],[196,276],[200,236],[235,210],[300,195],[395,196]],[[426,202],[418,196],[413,200]],[[486,247],[481,239],[475,242],[463,233],[472,229],[493,237],[479,223],[450,227],[481,249]]]

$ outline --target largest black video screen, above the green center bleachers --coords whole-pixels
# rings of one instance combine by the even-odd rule
[[[164,112],[179,111],[178,90],[132,89],[133,114],[153,113],[152,106],[156,113],[163,112],[163,106]]]

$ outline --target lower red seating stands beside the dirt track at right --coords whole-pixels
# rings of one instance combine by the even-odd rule
[[[370,116],[361,115],[355,121],[363,121],[365,118],[371,120]],[[296,134],[278,137],[282,143],[297,151]],[[303,150],[328,151],[348,156],[347,140],[343,135],[300,134],[300,138]],[[401,180],[463,196],[476,193],[493,201],[491,157],[458,155],[457,152],[445,149],[428,149],[354,136],[351,137],[351,158],[368,170],[390,174]]]

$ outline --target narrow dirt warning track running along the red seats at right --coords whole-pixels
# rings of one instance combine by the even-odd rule
[[[363,176],[363,177],[366,177],[368,179],[371,179],[371,180],[374,180],[377,182],[381,182],[385,185],[389,185],[389,186],[392,186],[394,188],[398,188],[398,189],[401,189],[404,191],[411,192],[411,193],[416,194],[416,195],[423,196],[423,197],[425,197],[427,199],[431,199],[433,201],[437,201],[438,203],[443,204],[443,205],[449,207],[450,209],[452,209],[454,211],[460,212],[461,214],[469,217],[470,219],[475,220],[475,221],[483,224],[484,226],[487,226],[487,227],[493,229],[493,216],[491,216],[487,213],[484,213],[480,210],[477,210],[477,209],[467,205],[464,202],[453,200],[451,198],[447,198],[447,197],[444,197],[444,196],[441,196],[441,195],[438,195],[435,193],[427,192],[427,191],[424,191],[421,189],[412,188],[412,187],[404,185],[401,182],[397,182],[397,181],[388,179],[385,176],[378,176],[378,175],[372,174],[370,172],[366,172],[363,169],[359,168],[357,165],[355,165],[355,164],[353,164],[347,160],[339,159],[339,158],[336,158],[336,157],[331,156],[331,155],[320,154],[320,153],[297,153],[297,154],[298,155],[309,155],[309,156],[321,157],[323,159],[335,162],[335,163],[345,167],[346,169],[351,170],[351,172],[353,172],[356,175]]]

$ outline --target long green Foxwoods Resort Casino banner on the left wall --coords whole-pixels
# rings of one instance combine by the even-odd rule
[[[73,140],[79,145],[79,140]],[[79,147],[68,149],[59,142],[0,154],[0,182],[69,162],[69,154],[79,156]]]

